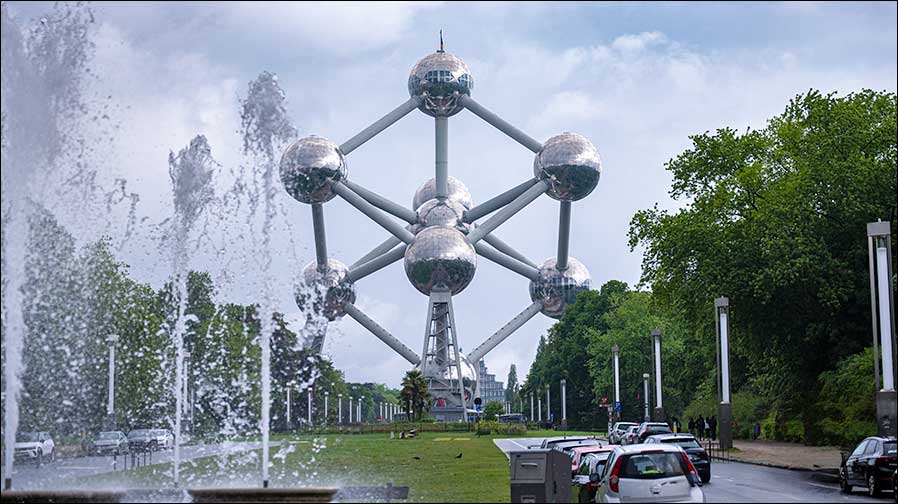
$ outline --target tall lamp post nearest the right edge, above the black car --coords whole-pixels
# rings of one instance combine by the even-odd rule
[[[876,427],[880,436],[898,433],[898,393],[895,391],[895,295],[892,290],[892,231],[886,221],[867,224],[870,258],[870,308],[873,325],[873,362],[876,380]],[[879,379],[882,347],[882,385]]]

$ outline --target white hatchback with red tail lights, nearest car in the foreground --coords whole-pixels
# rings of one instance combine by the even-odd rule
[[[705,502],[705,494],[682,448],[636,444],[614,448],[599,478],[596,502]]]

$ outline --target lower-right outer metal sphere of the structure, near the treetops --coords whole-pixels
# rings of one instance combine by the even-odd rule
[[[530,282],[530,299],[543,303],[544,315],[561,318],[577,294],[589,290],[589,285],[589,271],[580,261],[568,257],[567,269],[559,271],[555,258],[547,259],[539,267],[539,276]]]

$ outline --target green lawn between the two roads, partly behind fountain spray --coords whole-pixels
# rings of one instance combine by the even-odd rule
[[[556,431],[525,437],[557,436]],[[566,434],[578,434],[568,432]],[[416,439],[389,434],[282,437],[271,450],[272,487],[409,487],[412,502],[508,502],[508,460],[495,438],[467,432],[426,432]],[[261,450],[205,457],[182,464],[187,487],[259,486]],[[79,486],[171,487],[171,465],[83,478]]]

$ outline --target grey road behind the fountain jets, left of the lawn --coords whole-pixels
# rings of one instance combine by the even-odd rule
[[[271,442],[272,447],[280,442]],[[262,447],[259,441],[228,442],[219,444],[185,445],[181,447],[181,460],[198,457],[234,454],[256,450]],[[13,469],[13,488],[16,490],[41,490],[61,488],[62,482],[73,478],[84,478],[95,474],[124,469],[125,456],[118,457],[117,465],[112,456],[68,457],[45,463],[41,467],[29,462],[16,464]],[[142,456],[141,456],[142,460]],[[148,455],[147,465],[165,464],[174,460],[173,450],[153,452]],[[5,469],[5,468],[4,468]],[[3,477],[5,478],[5,472]]]

